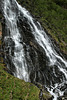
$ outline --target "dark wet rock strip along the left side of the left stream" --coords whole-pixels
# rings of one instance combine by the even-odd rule
[[[2,20],[2,49],[3,49],[3,56],[4,56],[4,63],[7,65],[7,72],[12,74],[15,72],[15,66],[12,62],[12,56],[14,56],[14,46],[15,43],[10,38],[10,30],[7,28],[5,19]],[[11,55],[10,53],[11,52]]]

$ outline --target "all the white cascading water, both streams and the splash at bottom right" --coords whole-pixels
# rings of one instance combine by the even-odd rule
[[[23,7],[21,7],[16,0],[12,0],[12,2],[15,2],[18,9],[18,15],[16,12],[12,9],[12,5],[10,0],[4,0],[4,17],[6,19],[6,25],[8,25],[8,30],[10,30],[10,35],[6,36],[4,39],[7,40],[8,38],[12,38],[12,40],[15,43],[15,50],[14,50],[14,56],[12,56],[12,62],[16,67],[16,71],[14,75],[18,78],[24,79],[25,81],[30,81],[29,79],[29,73],[27,68],[27,61],[25,59],[25,52],[23,45],[20,43],[21,35],[18,30],[17,26],[17,16],[20,16],[20,12],[22,13],[23,17],[27,19],[28,24],[31,28],[31,34],[34,35],[35,40],[37,43],[44,49],[46,52],[46,56],[49,58],[49,66],[57,66],[60,72],[63,73],[65,76],[65,79],[62,81],[62,83],[56,83],[54,86],[51,86],[47,89],[48,91],[54,95],[54,100],[57,100],[58,94],[59,96],[63,95],[64,91],[60,91],[58,87],[61,87],[62,84],[67,84],[67,62],[64,60],[59,54],[55,51],[52,42],[50,38],[47,36],[47,34],[42,29],[39,22],[37,22],[38,26],[35,24],[34,19],[30,15],[30,13]],[[23,39],[22,39],[23,40]],[[54,71],[55,73],[55,71]],[[56,74],[56,73],[55,73]],[[53,90],[56,89],[56,92],[53,93]],[[58,94],[57,94],[58,93]]]

